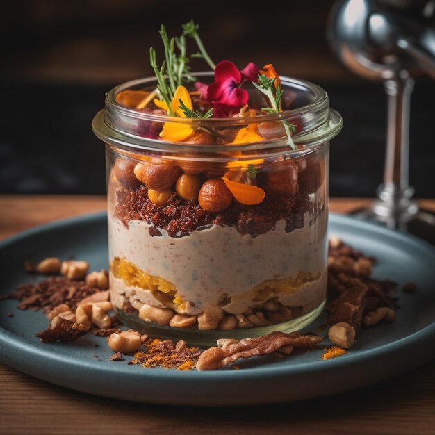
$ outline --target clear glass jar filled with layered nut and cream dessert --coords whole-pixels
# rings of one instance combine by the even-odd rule
[[[138,108],[154,78],[108,92],[92,127],[106,143],[110,295],[129,327],[211,345],[321,313],[329,140],[342,119],[318,85],[281,85],[281,113],[208,119]]]

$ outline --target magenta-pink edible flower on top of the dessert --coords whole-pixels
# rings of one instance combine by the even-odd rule
[[[215,67],[215,81],[208,86],[208,101],[215,106],[215,117],[228,117],[247,104],[249,94],[240,86],[245,81],[257,81],[258,67],[249,62],[239,71],[229,60],[222,60]]]

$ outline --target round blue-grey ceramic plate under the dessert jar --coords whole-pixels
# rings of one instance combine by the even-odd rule
[[[29,281],[28,258],[74,255],[91,268],[107,268],[106,215],[88,215],[19,234],[0,245],[3,293]],[[393,324],[366,329],[352,350],[328,361],[322,349],[284,359],[265,356],[238,361],[240,370],[180,372],[110,362],[104,338],[87,334],[73,343],[43,344],[35,332],[47,326],[40,312],[0,302],[0,359],[53,384],[138,402],[182,405],[246,405],[319,397],[366,386],[420,366],[435,356],[435,250],[421,240],[351,217],[331,215],[330,233],[379,259],[378,278],[416,282],[416,293],[400,291]],[[6,314],[13,313],[10,318]],[[307,330],[325,324],[321,316]],[[327,340],[326,345],[330,345]],[[98,345],[98,347],[96,346]]]

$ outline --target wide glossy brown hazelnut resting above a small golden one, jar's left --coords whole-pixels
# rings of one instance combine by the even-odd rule
[[[156,165],[154,163],[138,163],[134,174],[139,181],[153,190],[167,190],[181,174],[181,169],[174,165]]]

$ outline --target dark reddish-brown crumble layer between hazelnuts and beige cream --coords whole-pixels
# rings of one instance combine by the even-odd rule
[[[171,237],[188,236],[192,231],[213,224],[236,227],[242,234],[257,236],[273,229],[279,220],[286,220],[286,231],[304,226],[304,213],[311,211],[315,219],[313,204],[308,195],[299,193],[294,197],[267,196],[261,204],[245,206],[233,202],[226,211],[207,213],[194,202],[179,199],[174,192],[165,206],[156,206],[148,198],[148,189],[140,186],[136,190],[117,191],[115,216],[128,227],[131,220],[145,220],[154,227],[151,236],[160,236],[158,228],[165,229]]]

